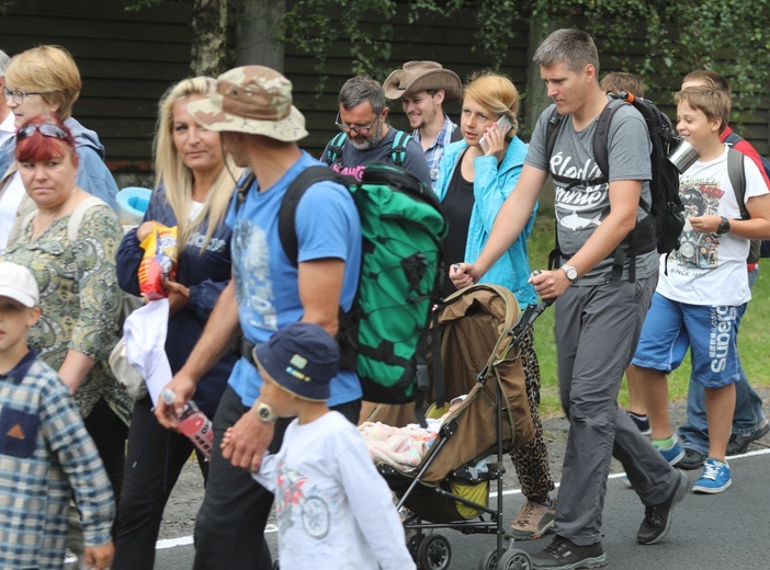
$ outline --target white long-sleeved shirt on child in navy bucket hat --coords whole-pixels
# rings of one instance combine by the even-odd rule
[[[294,420],[253,478],[275,494],[282,569],[415,569],[390,489],[339,412]]]

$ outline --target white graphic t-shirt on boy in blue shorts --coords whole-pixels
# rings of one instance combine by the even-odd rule
[[[698,161],[679,178],[679,196],[686,218],[715,214],[740,219],[740,209],[727,174],[727,150],[715,160]],[[768,193],[757,166],[744,157],[745,202]],[[751,299],[746,273],[749,240],[734,233],[716,236],[692,229],[689,220],[679,250],[661,256],[658,293],[680,303],[704,306],[737,306]]]

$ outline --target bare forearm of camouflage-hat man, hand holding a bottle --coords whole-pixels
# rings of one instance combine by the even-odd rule
[[[203,329],[203,334],[190,353],[184,366],[165,387],[177,395],[174,408],[182,408],[193,397],[199,380],[230,347],[238,327],[235,282],[230,281],[222,292],[219,300],[216,303],[208,322],[206,322],[206,328]],[[169,419],[167,404],[162,400],[158,401],[155,417],[165,428],[177,429],[175,423]]]

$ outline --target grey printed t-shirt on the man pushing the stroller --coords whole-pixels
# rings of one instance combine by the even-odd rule
[[[620,104],[611,103],[611,104]],[[548,119],[555,109],[551,105],[537,119],[525,163],[548,173],[578,180],[601,176],[601,170],[593,158],[595,119],[581,132],[573,126],[571,115],[562,122],[553,155],[545,156],[545,136]],[[598,118],[598,117],[597,117]],[[641,180],[642,202],[649,208],[649,180],[652,168],[649,153],[652,144],[644,117],[631,105],[623,105],[612,117],[608,137],[608,162],[610,182],[616,180]],[[558,232],[559,248],[565,258],[574,255],[591,237],[596,228],[610,213],[609,183],[592,186],[576,185],[565,190],[567,183],[554,181],[554,213]],[[647,216],[639,207],[637,220]],[[612,272],[611,255],[600,261],[578,282],[578,285],[598,285],[607,282]],[[625,260],[623,278],[629,277],[630,260]],[[658,267],[657,251],[639,253],[636,256],[636,277],[654,275]]]

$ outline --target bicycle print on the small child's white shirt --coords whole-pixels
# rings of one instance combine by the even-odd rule
[[[275,475],[279,539],[295,524],[301,524],[313,538],[326,538],[331,527],[331,509],[339,504],[339,498],[329,497],[324,490],[316,489],[313,483],[308,483],[307,477],[288,469],[283,460],[279,461]]]

